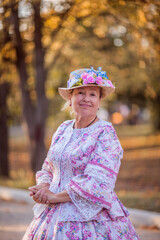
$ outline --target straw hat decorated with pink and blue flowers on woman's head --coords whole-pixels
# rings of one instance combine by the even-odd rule
[[[70,78],[67,81],[67,88],[58,88],[58,91],[62,98],[69,100],[72,89],[88,86],[100,87],[102,89],[102,98],[110,95],[115,90],[115,87],[108,79],[106,72],[102,71],[101,67],[97,70],[91,67],[71,72]]]

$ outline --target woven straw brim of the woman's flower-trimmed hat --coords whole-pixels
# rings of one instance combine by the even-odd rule
[[[105,98],[107,96],[109,96],[111,93],[113,93],[115,91],[115,87],[108,87],[108,86],[100,86],[100,85],[95,85],[95,84],[87,84],[87,85],[82,85],[82,86],[75,86],[72,88],[58,88],[59,94],[61,95],[61,97],[65,100],[69,100],[70,99],[70,94],[71,94],[71,90],[75,89],[75,88],[82,88],[82,87],[100,87],[102,89],[102,98]]]

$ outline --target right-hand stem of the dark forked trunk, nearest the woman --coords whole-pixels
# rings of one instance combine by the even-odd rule
[[[35,148],[32,151],[32,169],[36,171],[40,169],[46,156],[46,148],[44,144],[45,123],[47,118],[48,101],[45,95],[46,70],[44,64],[45,50],[42,46],[42,19],[40,16],[40,1],[32,2],[34,9],[34,44],[35,44],[35,73],[36,73],[36,125],[34,129]]]

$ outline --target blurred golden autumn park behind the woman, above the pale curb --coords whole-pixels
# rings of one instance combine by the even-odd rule
[[[116,192],[160,212],[160,2],[0,0],[0,185],[27,189],[58,125],[58,87],[75,69],[102,67],[116,92],[99,116],[124,158]]]

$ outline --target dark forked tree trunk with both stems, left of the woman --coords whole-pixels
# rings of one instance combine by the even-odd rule
[[[40,8],[38,9],[40,11]],[[35,14],[36,15],[36,14]],[[19,32],[18,8],[12,8],[12,18],[15,32],[15,49],[17,55],[17,70],[20,76],[20,88],[22,92],[23,115],[28,126],[29,139],[31,143],[31,166],[33,172],[39,170],[42,166],[46,155],[44,144],[45,121],[47,117],[47,99],[45,97],[45,70],[44,70],[44,53],[41,44],[41,35],[35,32],[35,71],[36,71],[36,94],[37,101],[33,104],[30,93],[26,89],[27,86],[27,66],[25,62],[25,52],[23,50],[23,42]],[[37,15],[35,16],[37,18]],[[40,26],[38,26],[40,27]],[[41,31],[38,30],[38,31]],[[41,34],[41,33],[40,33]]]

